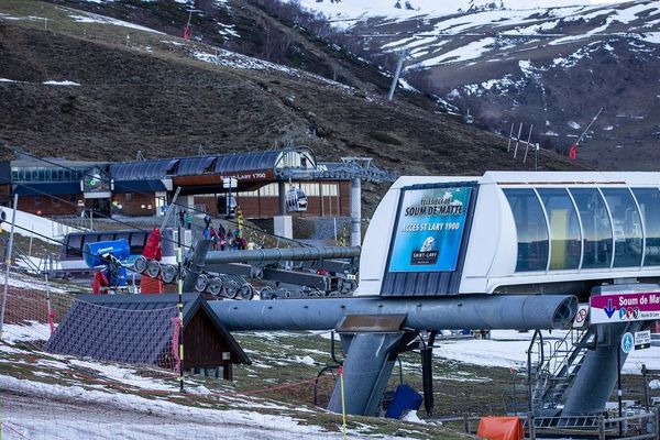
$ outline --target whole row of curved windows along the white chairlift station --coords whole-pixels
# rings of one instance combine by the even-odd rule
[[[660,266],[658,188],[503,188],[516,272]]]

